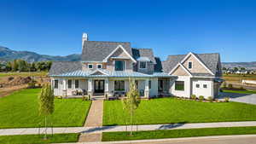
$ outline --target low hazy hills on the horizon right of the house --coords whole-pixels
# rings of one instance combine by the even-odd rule
[[[226,68],[245,67],[247,69],[256,70],[256,61],[253,62],[222,62],[222,66]]]

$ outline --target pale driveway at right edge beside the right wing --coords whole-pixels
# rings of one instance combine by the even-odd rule
[[[219,99],[230,97],[230,101],[243,102],[256,105],[256,94],[220,93]]]

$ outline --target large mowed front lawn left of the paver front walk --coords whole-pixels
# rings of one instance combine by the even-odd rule
[[[44,117],[38,115],[40,89],[22,89],[0,98],[0,128],[38,127]],[[55,99],[53,126],[83,126],[90,101]]]

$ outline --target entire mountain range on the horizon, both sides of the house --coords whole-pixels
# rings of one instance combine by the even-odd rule
[[[0,46],[0,61],[9,61],[15,59],[22,59],[28,62],[34,61],[79,61],[81,55],[73,54],[67,56],[52,56],[52,55],[39,55],[31,51],[15,51],[3,46]],[[256,69],[256,61],[253,62],[222,62],[222,66],[226,68],[233,67],[246,67],[247,69]]]

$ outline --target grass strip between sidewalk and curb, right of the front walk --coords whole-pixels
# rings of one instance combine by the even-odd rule
[[[195,137],[209,135],[245,135],[256,134],[256,127],[204,128],[187,130],[154,130],[130,132],[103,132],[102,141],[129,141],[143,139],[164,139],[177,137]]]

